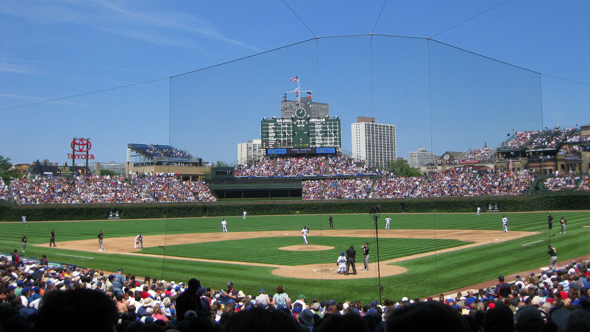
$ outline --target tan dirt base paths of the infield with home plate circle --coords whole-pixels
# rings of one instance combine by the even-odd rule
[[[314,232],[314,236],[339,236],[339,237],[373,237],[373,230],[355,230],[353,234],[350,232],[343,232],[342,230],[322,230]],[[507,240],[518,239],[519,237],[525,237],[533,235],[533,232],[508,232],[504,233],[501,230],[461,230],[461,229],[392,229],[391,232],[380,232],[379,237],[386,238],[410,238],[410,239],[457,239],[466,242],[473,242],[463,246],[457,246],[454,248],[447,248],[442,250],[436,250],[431,252],[419,253],[417,255],[405,256],[401,258],[389,259],[387,261],[381,261],[379,263],[379,269],[381,276],[391,276],[396,274],[402,274],[407,269],[401,266],[391,265],[391,263],[407,261],[409,259],[415,259],[425,256],[430,256],[438,253],[451,252],[454,250],[471,248],[474,246],[486,245],[494,242],[504,242]],[[276,230],[276,231],[264,231],[264,232],[230,232],[230,233],[192,233],[192,234],[171,234],[171,235],[145,235],[143,236],[143,243],[146,246],[171,246],[171,245],[184,245],[187,243],[205,243],[215,242],[224,240],[241,240],[241,239],[254,239],[257,237],[300,237],[300,230]],[[313,242],[314,236],[308,236],[307,239]],[[352,243],[356,245],[355,243]],[[161,257],[158,255],[149,255],[138,253],[137,251],[141,248],[134,249],[135,236],[129,237],[107,237],[104,239],[104,246],[107,250],[97,251],[99,249],[98,240],[77,240],[77,241],[66,241],[58,242],[58,248],[80,250],[86,252],[94,252],[97,255],[106,255],[110,253],[117,253],[122,255],[133,255],[133,256],[148,256],[148,257]],[[47,247],[47,243],[37,245],[41,247]],[[358,244],[360,247],[360,243]],[[314,250],[313,247],[316,245],[300,245],[301,250]],[[320,247],[320,246],[317,246]],[[280,248],[284,249],[284,248]],[[331,249],[331,248],[330,248]],[[343,248],[347,249],[347,248]],[[287,249],[289,250],[289,249]],[[315,249],[315,250],[327,250],[327,249]],[[235,262],[235,261],[221,261],[215,259],[202,259],[202,258],[186,258],[186,257],[174,257],[174,259],[181,259],[185,261],[195,262],[212,262],[212,263],[225,263],[225,264],[238,264],[238,265],[250,265],[250,266],[266,266],[276,268],[272,271],[274,275],[289,277],[289,278],[300,278],[300,279],[355,279],[355,278],[376,278],[377,277],[377,263],[369,263],[369,271],[363,271],[363,256],[362,252],[358,252],[356,258],[356,275],[341,275],[337,274],[336,262],[324,263],[324,264],[310,264],[310,265],[276,265],[276,264],[265,264],[265,263],[250,263],[250,262]],[[372,257],[372,259],[374,259]],[[371,260],[372,260],[371,259]],[[336,258],[335,258],[336,261]],[[349,271],[352,272],[352,271]]]

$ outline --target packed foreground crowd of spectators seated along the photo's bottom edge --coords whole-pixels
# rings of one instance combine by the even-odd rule
[[[557,270],[497,283],[478,291],[424,300],[363,303],[345,298],[291,296],[282,285],[254,294],[240,285],[186,285],[139,279],[76,266],[56,268],[44,255],[24,261],[15,249],[0,261],[0,329],[41,331],[69,326],[96,331],[587,331],[590,269],[575,261]],[[495,285],[494,285],[495,284]],[[409,284],[408,284],[409,285]],[[238,287],[235,287],[238,286]],[[264,287],[264,288],[263,288]],[[225,290],[224,290],[225,289]],[[276,289],[276,291],[275,291]],[[342,297],[346,295],[341,293]],[[310,295],[310,294],[308,294]]]

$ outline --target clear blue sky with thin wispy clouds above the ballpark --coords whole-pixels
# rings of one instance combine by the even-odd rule
[[[390,0],[374,32],[431,37],[500,2]],[[383,2],[287,4],[314,34],[280,0],[5,1],[0,109],[174,76],[314,35],[368,34]],[[512,0],[434,40],[590,84],[589,16],[588,1]],[[330,103],[345,131],[369,112],[396,124],[398,156],[406,158],[418,145],[441,154],[499,144],[514,127],[590,123],[586,85],[539,81],[432,41],[376,36],[371,47],[367,36],[323,38],[171,81],[2,110],[0,154],[61,163],[71,138],[90,137],[97,161],[123,162],[127,142],[170,141],[205,161],[234,162],[236,144],[258,138],[260,119],[278,115],[296,75],[315,100]],[[350,132],[343,145],[350,149]]]

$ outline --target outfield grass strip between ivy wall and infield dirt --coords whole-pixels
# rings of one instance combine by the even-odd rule
[[[590,220],[588,212],[563,212],[568,225]],[[436,213],[436,214],[381,214],[379,221],[382,231],[383,220],[392,217],[391,229],[481,229],[501,230],[499,213]],[[510,230],[536,231],[547,227],[546,213],[506,213]],[[554,226],[559,227],[557,213],[554,214]],[[329,214],[306,216],[248,216],[225,217],[230,232],[251,232],[266,230],[294,230],[309,227],[311,236],[322,230],[328,230]],[[335,231],[355,229],[373,229],[373,223],[367,214],[334,215]],[[148,220],[96,220],[89,222],[34,222],[27,226],[21,223],[0,223],[0,240],[19,241],[23,233],[31,243],[49,243],[49,233],[55,229],[55,239],[60,241],[96,239],[100,230],[104,230],[105,239],[109,237],[211,233],[221,232],[222,217],[201,217],[186,219],[148,219]]]

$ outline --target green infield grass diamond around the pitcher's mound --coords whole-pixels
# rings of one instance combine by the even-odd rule
[[[260,237],[258,239],[172,245],[166,246],[165,250],[158,247],[143,248],[141,253],[280,265],[332,264],[336,262],[340,252],[346,251],[350,245],[355,246],[358,255],[357,259],[362,258],[363,255],[360,246],[365,241],[372,242],[372,239],[366,239],[365,237],[323,236],[320,241],[320,237],[310,237],[310,245],[332,246],[334,249],[301,252],[278,249],[285,246],[303,245],[300,237]],[[430,252],[435,250],[435,248],[453,248],[468,243],[470,242],[453,239],[382,238],[379,239],[379,259],[385,261],[387,259]],[[376,260],[375,243],[369,246],[369,255],[373,255],[372,261],[374,262]]]

